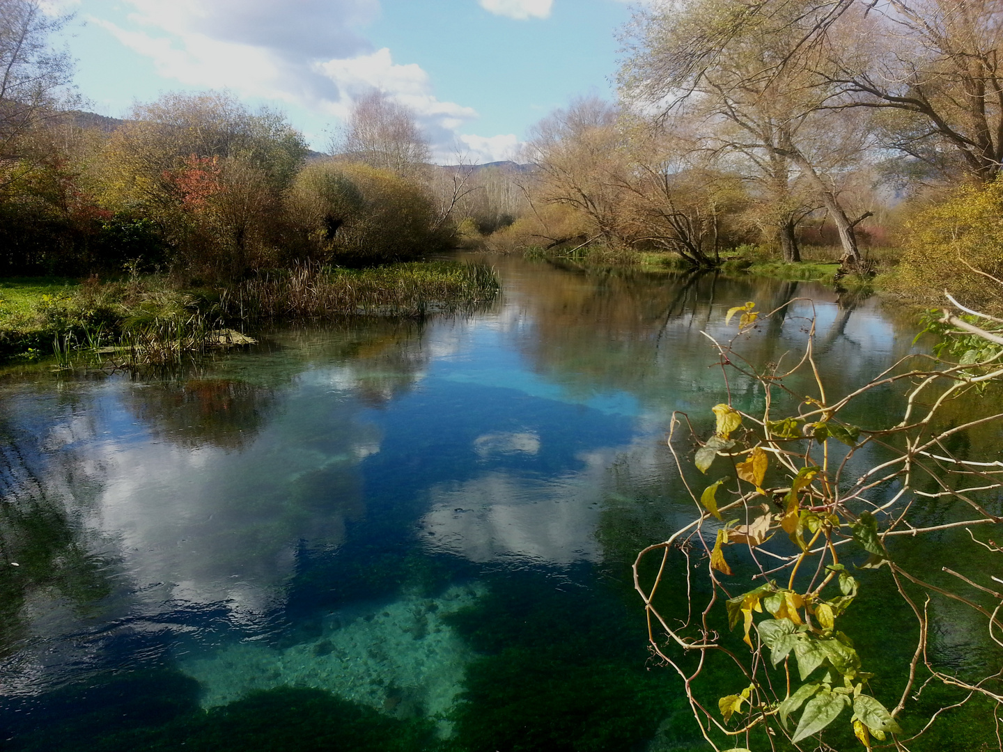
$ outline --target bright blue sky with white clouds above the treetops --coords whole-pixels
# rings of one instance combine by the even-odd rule
[[[512,155],[577,95],[612,95],[623,0],[63,0],[91,108],[227,88],[284,109],[326,150],[371,87],[409,105],[451,161]]]

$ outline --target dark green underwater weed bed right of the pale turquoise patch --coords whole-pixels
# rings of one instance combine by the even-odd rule
[[[450,749],[626,752],[665,731],[682,693],[632,639],[643,637],[640,610],[607,585],[584,587],[591,570],[488,580],[486,596],[447,618],[479,654],[452,712]]]

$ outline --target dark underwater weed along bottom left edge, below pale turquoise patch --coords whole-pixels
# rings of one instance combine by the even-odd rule
[[[198,697],[198,683],[174,672],[114,677],[50,693],[45,708],[36,709],[23,729],[8,723],[2,738],[12,752],[434,749],[432,723],[391,718],[321,690],[282,687],[255,692],[208,711],[199,708]],[[27,709],[28,703],[24,705]],[[45,722],[39,723],[43,715]]]

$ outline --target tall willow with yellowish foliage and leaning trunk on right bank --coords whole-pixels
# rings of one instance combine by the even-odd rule
[[[819,40],[852,3],[684,0],[643,10],[621,70],[624,97],[657,106],[663,117],[686,111],[702,119],[707,147],[746,159],[780,208],[777,232],[795,260],[799,209],[792,182],[805,180],[840,234],[845,268],[860,262],[856,226],[842,178],[863,152],[866,132],[834,117],[841,87],[818,73],[831,57]],[[786,242],[784,241],[786,239]]]

